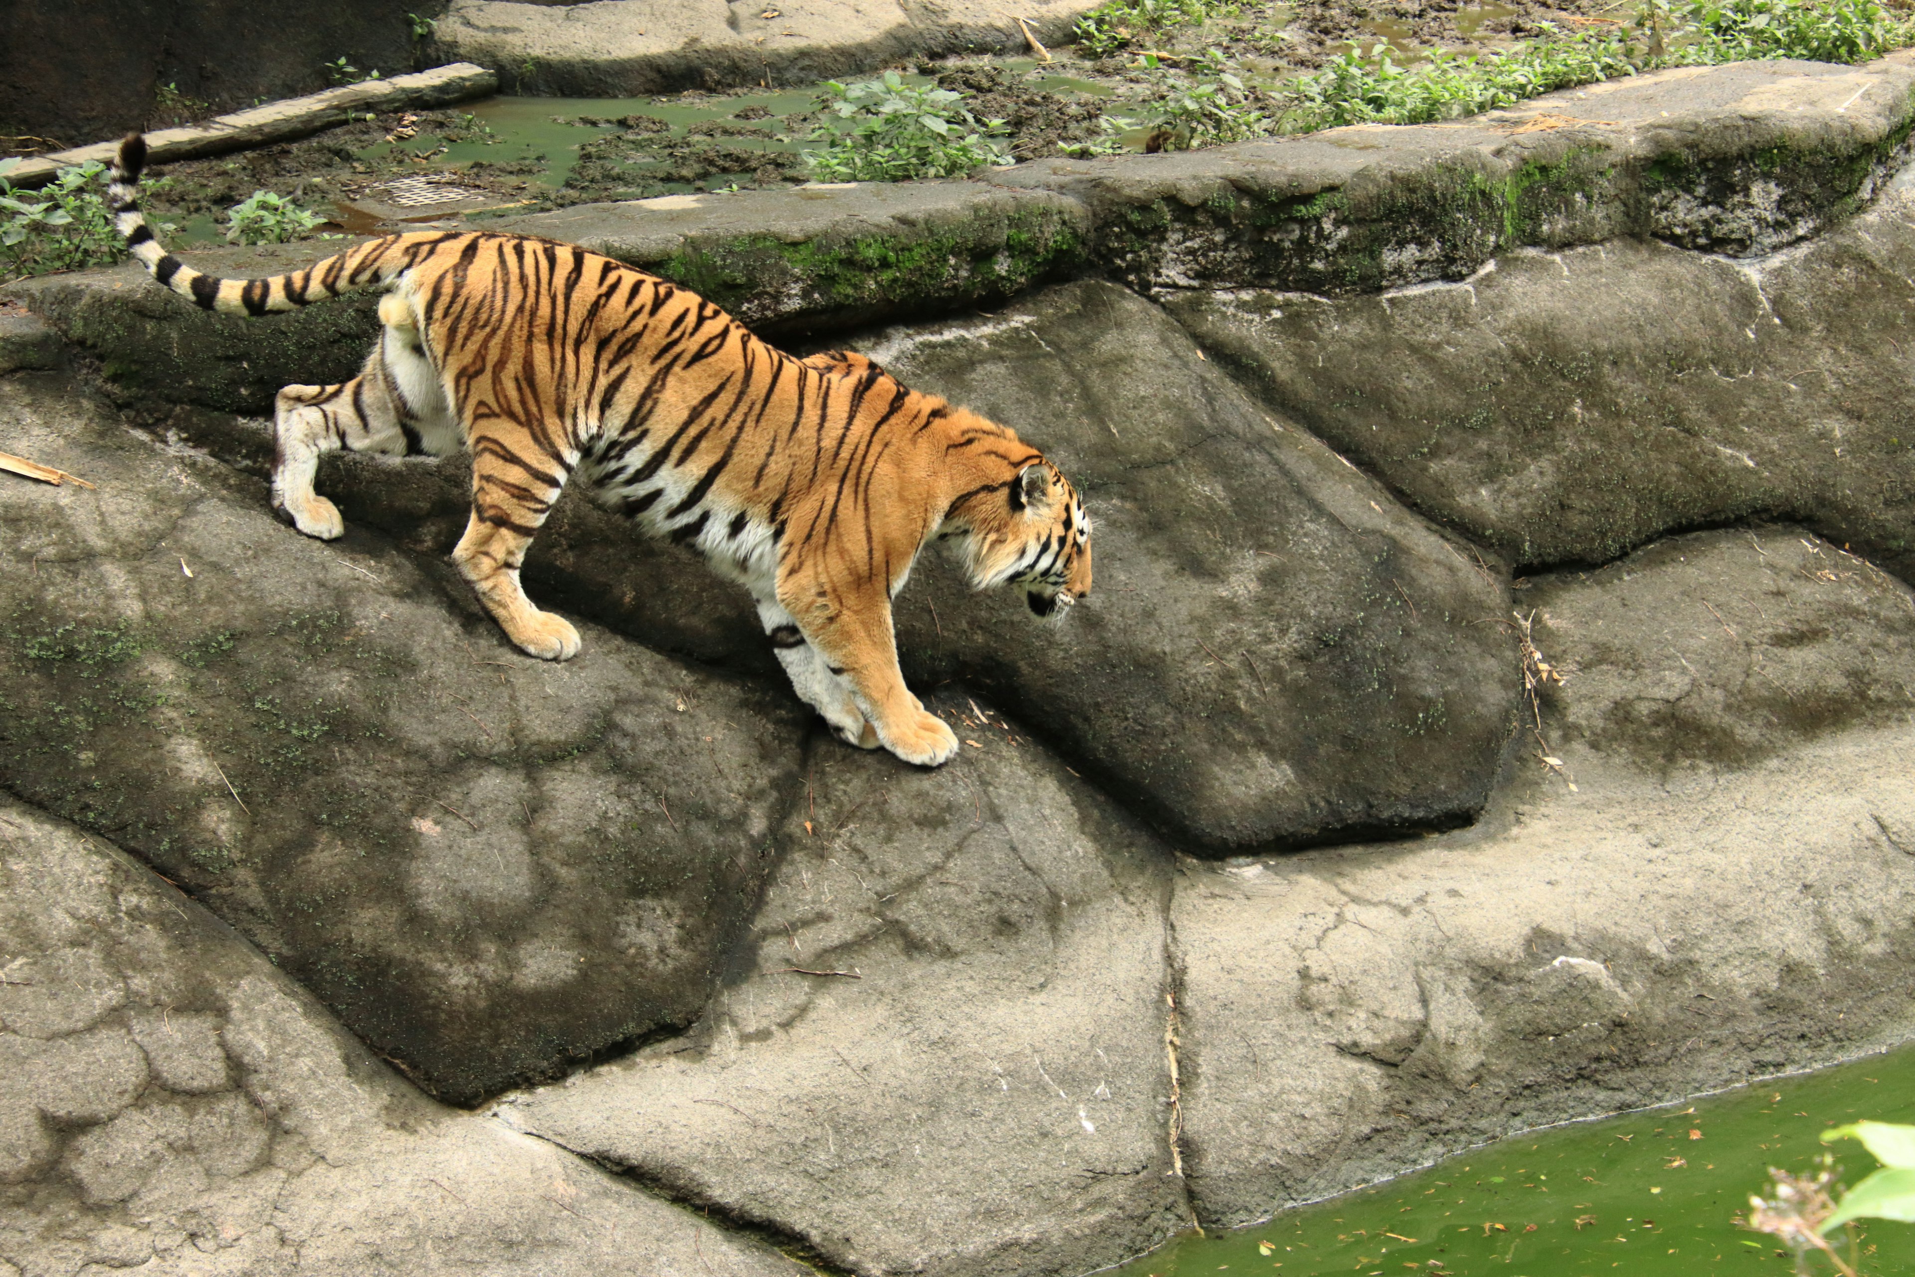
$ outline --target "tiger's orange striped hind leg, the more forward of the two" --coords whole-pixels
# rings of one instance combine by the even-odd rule
[[[515,433],[530,448],[529,433]],[[552,456],[521,454],[494,435],[473,433],[473,513],[452,563],[513,645],[542,661],[578,655],[578,630],[525,597],[519,567],[532,536],[565,488],[567,467]]]

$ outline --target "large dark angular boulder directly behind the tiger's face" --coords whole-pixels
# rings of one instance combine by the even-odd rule
[[[1440,825],[1482,806],[1519,687],[1498,580],[1260,412],[1149,302],[1048,289],[864,347],[1015,427],[1082,488],[1097,584],[1059,624],[942,559],[898,601],[919,685],[979,680],[1216,852]]]

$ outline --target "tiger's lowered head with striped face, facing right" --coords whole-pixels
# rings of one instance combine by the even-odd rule
[[[1003,496],[967,511],[967,559],[979,590],[1017,584],[1038,616],[1090,594],[1090,515],[1070,481],[1049,461],[1017,471]]]

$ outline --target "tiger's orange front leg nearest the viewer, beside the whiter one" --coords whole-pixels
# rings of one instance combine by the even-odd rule
[[[958,752],[958,735],[904,685],[890,628],[890,595],[873,584],[833,597],[822,580],[781,582],[779,601],[825,672],[850,687],[877,741],[904,762],[935,768]]]

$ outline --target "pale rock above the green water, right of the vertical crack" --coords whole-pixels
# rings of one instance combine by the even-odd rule
[[[1570,670],[1543,714],[1565,772],[1524,735],[1476,827],[1185,865],[1199,1218],[1915,1032],[1915,597],[1792,530],[1758,542],[1521,595]]]

